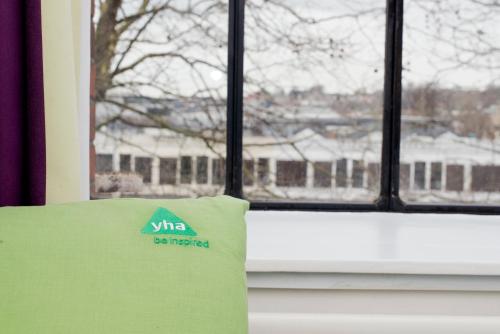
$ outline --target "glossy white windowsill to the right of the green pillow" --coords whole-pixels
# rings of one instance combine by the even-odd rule
[[[500,276],[500,217],[251,211],[249,273]]]

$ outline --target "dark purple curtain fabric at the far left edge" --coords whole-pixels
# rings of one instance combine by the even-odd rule
[[[41,0],[0,0],[0,206],[45,203]]]

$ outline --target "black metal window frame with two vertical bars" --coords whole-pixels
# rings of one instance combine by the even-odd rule
[[[372,203],[252,201],[255,210],[500,214],[500,206],[406,203],[399,195],[404,0],[386,1],[380,193]],[[225,194],[243,196],[244,0],[229,0]]]

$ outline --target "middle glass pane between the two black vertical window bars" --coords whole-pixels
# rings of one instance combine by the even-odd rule
[[[380,163],[385,3],[245,2],[243,145],[257,164],[247,198],[378,196],[365,166]]]

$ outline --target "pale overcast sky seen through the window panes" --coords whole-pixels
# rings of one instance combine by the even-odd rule
[[[255,9],[256,5],[262,5],[262,0],[248,0],[248,3],[245,25],[246,94],[262,87],[270,91],[289,91],[322,85],[330,93],[373,92],[383,88],[385,1],[280,2],[305,18],[322,20],[337,17],[319,24],[296,24],[293,15],[277,7],[273,7],[272,11],[269,6]],[[344,17],[368,9],[375,9],[375,13],[356,18]],[[175,16],[175,20],[162,20],[151,26],[147,35],[152,39],[165,40],[166,30],[175,32],[183,29],[185,23],[182,20],[179,16]],[[215,34],[219,38],[218,43],[227,43],[227,15],[204,17],[203,24],[218,31]],[[265,30],[262,25],[271,29]],[[500,84],[500,34],[497,33],[500,31],[500,8],[485,12],[484,7],[471,6],[470,1],[407,0],[404,27],[404,84],[434,82],[443,87],[465,89]],[[287,42],[286,38],[290,36],[293,42],[299,44],[309,42],[298,46],[297,53]],[[197,46],[195,42],[199,38],[203,37],[188,36],[187,44],[192,43],[193,46],[184,46],[181,52],[193,59],[221,64],[223,68],[227,50],[224,47]],[[331,49],[328,48],[330,39],[334,41]],[[496,52],[488,55],[485,52],[487,48],[496,48]],[[172,51],[175,47],[167,42],[153,46],[141,44],[124,63],[144,52],[165,50]],[[484,52],[485,55],[473,57],[471,50]],[[144,80],[150,78],[184,95],[206,84],[224,97],[226,75],[223,69],[203,65],[196,68],[199,75],[193,75],[192,68],[181,61],[174,61],[169,66],[155,61],[154,67],[140,70],[139,75]],[[151,88],[141,88],[139,93],[161,95]]]

